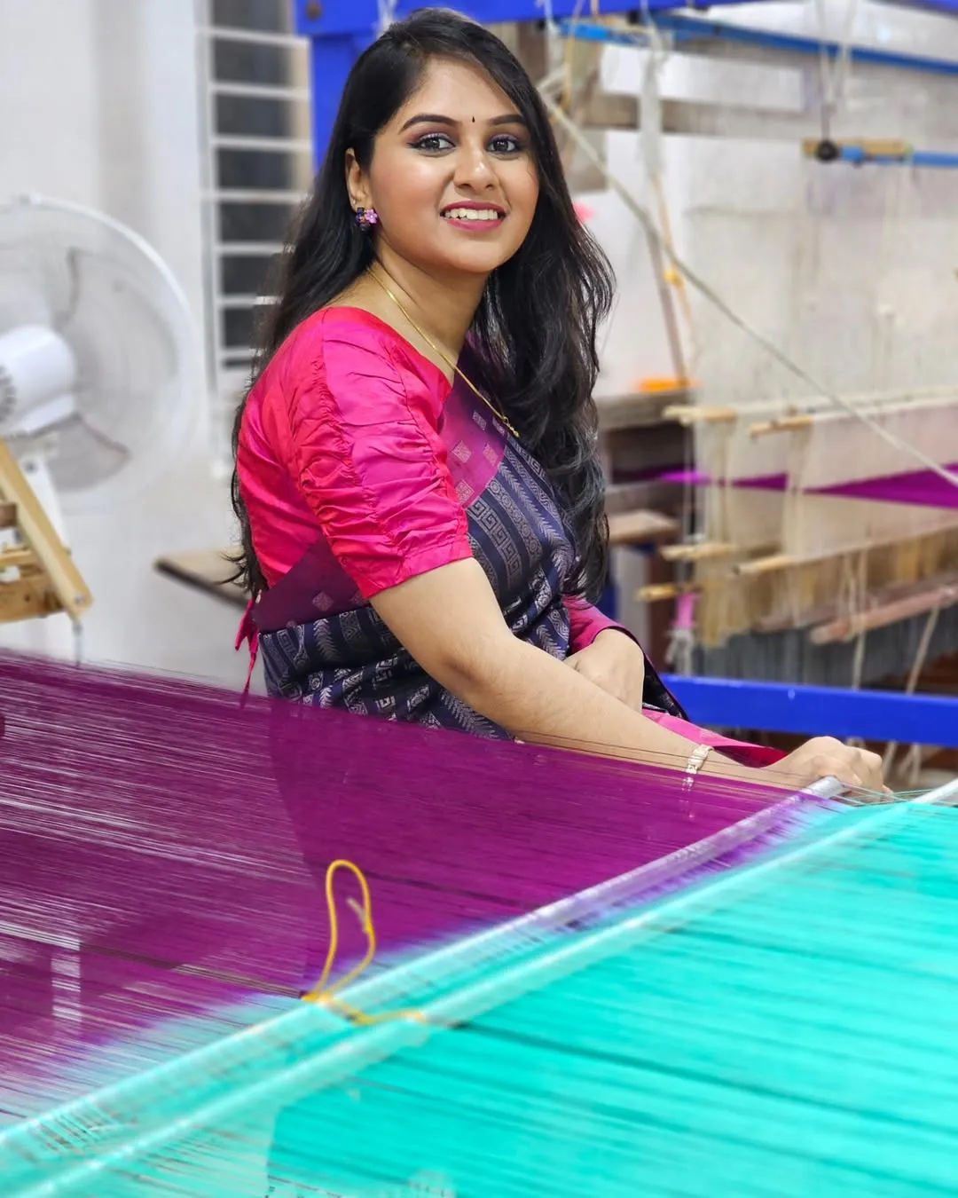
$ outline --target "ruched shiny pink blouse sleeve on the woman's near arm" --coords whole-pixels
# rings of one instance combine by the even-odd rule
[[[390,353],[388,334],[319,322],[290,379],[291,467],[364,599],[472,557],[438,434],[445,397]]]

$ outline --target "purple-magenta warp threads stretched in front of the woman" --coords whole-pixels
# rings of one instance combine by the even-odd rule
[[[0,1090],[14,1067],[55,1067],[61,1036],[295,997],[325,955],[334,858],[369,878],[388,961],[781,798],[17,657],[0,658]],[[338,887],[341,912],[351,887]],[[356,960],[358,927],[347,915],[341,927],[344,962]],[[69,944],[79,980],[65,1019],[54,978]]]

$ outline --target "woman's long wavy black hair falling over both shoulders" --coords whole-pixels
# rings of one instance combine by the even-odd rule
[[[281,258],[273,288],[278,303],[257,331],[251,385],[296,326],[374,261],[374,242],[354,223],[346,151],[353,151],[360,167],[369,167],[376,134],[435,59],[479,66],[528,127],[539,201],[525,242],[486,283],[471,339],[481,352],[484,380],[495,388],[493,398],[564,501],[577,558],[569,589],[595,599],[606,579],[608,525],[592,393],[599,369],[596,331],[611,308],[614,279],[607,258],[572,208],[548,114],[534,84],[515,55],[481,25],[443,8],[423,8],[392,25],[356,61],[313,194]],[[245,399],[236,413],[234,453],[244,406]],[[255,595],[266,580],[236,471],[232,504],[242,533],[237,577]]]

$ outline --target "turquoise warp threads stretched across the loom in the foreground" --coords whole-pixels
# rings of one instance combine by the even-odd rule
[[[86,1176],[23,1174],[11,1198],[255,1192],[271,1139],[277,1198],[953,1196],[958,811],[827,827],[771,867],[665,897],[584,968],[552,964],[575,933],[530,945],[520,964],[544,984],[455,1030],[401,1029],[390,1051],[376,1029],[382,1059],[352,1075],[335,1053],[374,1033],[317,1027],[289,1084],[253,1069],[219,1106],[166,1095],[141,1150]],[[617,913],[582,944],[627,922]],[[496,969],[480,973],[495,990]],[[339,1079],[320,1088],[326,1063]]]

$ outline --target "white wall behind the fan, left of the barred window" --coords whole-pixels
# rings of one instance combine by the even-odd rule
[[[0,0],[0,192],[85,204],[143,235],[186,292],[199,353],[182,459],[122,510],[67,512],[96,600],[86,654],[240,682],[234,610],[152,569],[232,527],[206,448],[196,63],[194,0]]]

